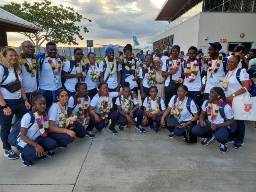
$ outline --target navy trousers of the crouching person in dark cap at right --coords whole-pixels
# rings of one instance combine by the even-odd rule
[[[197,124],[192,129],[192,134],[202,138],[211,138],[211,134],[214,134],[216,140],[221,144],[226,144],[228,141],[228,127],[218,127],[215,131],[210,126],[201,127]]]

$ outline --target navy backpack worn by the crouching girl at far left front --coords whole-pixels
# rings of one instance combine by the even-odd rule
[[[32,111],[29,111],[28,114],[31,117],[31,120],[29,122],[29,128],[31,128],[35,122],[35,116]],[[8,135],[8,143],[11,146],[16,146],[16,141],[18,137],[20,136],[21,132],[21,119],[16,121],[15,124],[13,125],[13,129],[11,130],[10,134]]]

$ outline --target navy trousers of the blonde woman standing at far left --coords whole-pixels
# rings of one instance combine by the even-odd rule
[[[3,109],[0,109],[0,125],[1,125],[1,140],[3,142],[3,149],[11,149],[11,145],[8,143],[8,135],[11,130],[11,121],[13,119],[13,114],[22,118],[28,110],[26,110],[24,101],[20,99],[4,99],[6,103],[9,104],[11,109],[11,115],[5,115]]]

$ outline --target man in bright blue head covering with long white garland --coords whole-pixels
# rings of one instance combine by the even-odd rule
[[[114,49],[112,47],[107,47],[106,58],[100,62],[100,82],[107,83],[109,86],[109,92],[120,91],[121,85],[121,71],[122,65],[118,64],[118,61],[114,57]],[[117,110],[114,104],[116,97],[113,98],[113,109]]]

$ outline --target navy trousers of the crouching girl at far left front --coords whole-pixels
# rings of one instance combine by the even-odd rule
[[[34,142],[42,146],[45,152],[57,148],[57,142],[50,137],[39,136]],[[43,158],[36,155],[36,149],[34,146],[26,144],[26,146],[22,148],[21,146],[17,145],[17,143],[18,142],[16,141],[16,148],[20,153],[22,153],[22,159],[27,161],[39,161]]]

